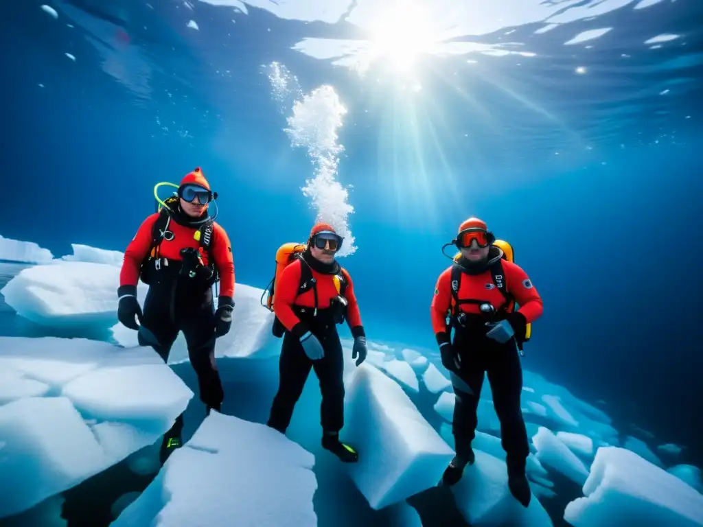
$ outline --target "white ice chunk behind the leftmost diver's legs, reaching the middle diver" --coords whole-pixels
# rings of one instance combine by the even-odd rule
[[[280,354],[280,339],[271,334],[274,315],[260,304],[263,289],[236,284],[232,327],[228,334],[219,337],[215,344],[217,358],[272,358]],[[117,304],[114,304],[117,309]],[[137,346],[137,332],[117,323],[112,327],[112,337],[125,347]],[[183,334],[172,346],[169,364],[188,361],[188,348]]]

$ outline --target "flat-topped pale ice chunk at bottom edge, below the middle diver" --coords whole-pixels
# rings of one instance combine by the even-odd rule
[[[112,527],[316,526],[314,462],[263,424],[211,412]]]

